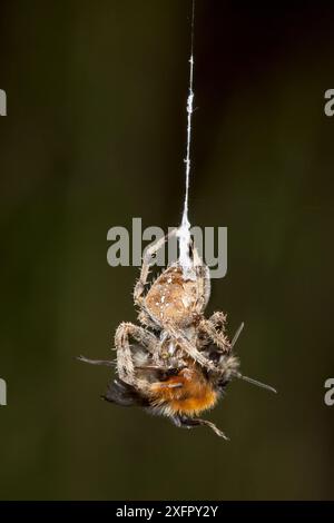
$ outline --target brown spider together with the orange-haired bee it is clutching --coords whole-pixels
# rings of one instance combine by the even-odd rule
[[[209,318],[205,317],[210,277],[195,246],[190,246],[193,277],[185,277],[179,262],[175,262],[146,292],[157,251],[170,235],[176,234],[177,229],[174,229],[144,254],[134,290],[141,325],[121,323],[117,328],[118,377],[102,398],[122,406],[143,406],[169,417],[179,427],[206,425],[227,440],[214,423],[198,417],[200,412],[216,405],[226,385],[237,377],[276,391],[239,373],[234,346],[244,324],[229,342],[225,314],[216,312]],[[95,365],[114,365],[110,361],[84,356],[79,359]]]

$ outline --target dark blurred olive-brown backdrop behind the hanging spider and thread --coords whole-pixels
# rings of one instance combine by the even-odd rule
[[[180,221],[190,1],[0,6],[0,496],[333,499],[334,88],[331,2],[197,0],[190,221],[228,227],[228,314],[245,374],[181,431],[100,401],[136,267],[115,225]]]

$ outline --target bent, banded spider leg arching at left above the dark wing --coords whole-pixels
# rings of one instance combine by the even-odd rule
[[[130,337],[136,339],[149,353],[154,352],[157,341],[151,333],[131,323],[121,323],[116,330],[115,347],[117,349],[118,375],[120,379],[129,385],[139,385],[139,381],[136,378],[134,354],[129,343]]]

